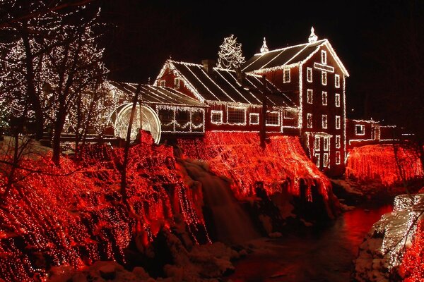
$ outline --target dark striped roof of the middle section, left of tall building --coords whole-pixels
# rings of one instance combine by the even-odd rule
[[[184,85],[201,101],[235,102],[244,104],[261,104],[264,85],[260,75],[246,74],[245,85],[237,80],[237,73],[222,68],[213,68],[206,73],[204,66],[168,60],[158,75],[158,80],[165,74],[166,68],[174,71]],[[267,99],[272,106],[295,106],[295,104],[271,82],[266,83]]]

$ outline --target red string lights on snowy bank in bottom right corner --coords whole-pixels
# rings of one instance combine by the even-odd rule
[[[418,222],[412,246],[404,253],[400,272],[405,282],[424,281],[424,220]]]

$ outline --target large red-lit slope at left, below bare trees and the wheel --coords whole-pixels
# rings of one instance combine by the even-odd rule
[[[119,193],[121,149],[87,149],[83,165],[61,159],[61,168],[49,157],[23,161],[22,166],[45,173],[18,170],[16,178],[25,178],[1,204],[0,280],[33,281],[44,277],[49,265],[124,262],[123,250],[136,231],[147,244],[161,226],[170,227],[175,213],[189,227],[204,228],[200,203],[194,200],[201,195],[183,185],[172,148],[141,144],[129,156],[129,202],[141,217],[139,226]],[[1,174],[0,183],[5,180]]]

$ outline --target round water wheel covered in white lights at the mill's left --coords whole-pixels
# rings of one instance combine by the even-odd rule
[[[126,138],[129,118],[131,116],[132,103],[122,104],[112,112],[109,123],[114,128],[114,135]],[[131,127],[131,140],[135,140],[138,129],[149,131],[156,144],[160,141],[160,120],[155,111],[146,104],[137,104],[134,121]]]

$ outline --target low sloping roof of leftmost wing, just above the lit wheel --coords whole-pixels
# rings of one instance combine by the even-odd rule
[[[127,94],[136,92],[137,84],[126,82],[110,82],[114,87]],[[205,104],[193,99],[169,87],[156,87],[152,85],[141,85],[141,101],[148,104],[167,104],[175,106],[198,106],[206,107]]]

